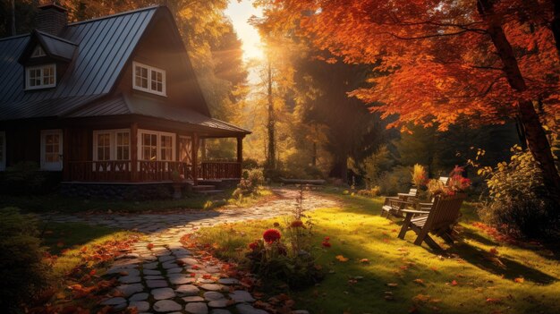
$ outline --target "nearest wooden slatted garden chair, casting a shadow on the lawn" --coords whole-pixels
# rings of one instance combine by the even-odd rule
[[[404,239],[404,234],[412,230],[418,234],[414,244],[421,245],[422,242],[426,242],[430,248],[442,250],[428,233],[437,234],[441,236],[445,242],[453,243],[454,239],[451,232],[457,219],[461,215],[460,209],[465,197],[466,195],[464,194],[444,197],[437,196],[429,210],[425,210],[426,208],[422,208],[421,206],[417,209],[401,209],[400,211],[405,213],[406,216],[404,217],[399,238]]]

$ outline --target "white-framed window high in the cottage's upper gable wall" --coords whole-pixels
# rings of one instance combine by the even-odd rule
[[[134,89],[167,96],[165,92],[165,70],[138,62],[133,62],[132,68],[132,86]]]

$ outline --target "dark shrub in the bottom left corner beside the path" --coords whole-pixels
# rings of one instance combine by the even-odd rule
[[[17,313],[48,285],[35,220],[18,208],[0,209],[0,309]]]

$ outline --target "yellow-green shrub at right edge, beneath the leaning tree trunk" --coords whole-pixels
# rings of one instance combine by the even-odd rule
[[[479,170],[488,175],[488,202],[479,216],[516,237],[557,237],[557,204],[547,195],[542,174],[529,151],[513,148],[509,163]]]

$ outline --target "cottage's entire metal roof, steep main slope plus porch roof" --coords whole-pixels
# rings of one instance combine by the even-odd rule
[[[59,37],[34,30],[29,35],[0,38],[0,121],[48,116],[145,115],[219,132],[250,133],[163,100],[109,95],[158,8],[151,6],[71,23]],[[18,59],[37,43],[47,54],[72,61],[55,88],[25,91],[24,68]],[[203,109],[207,108],[204,105]]]

